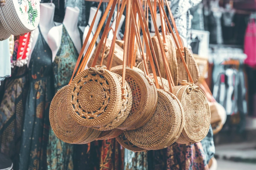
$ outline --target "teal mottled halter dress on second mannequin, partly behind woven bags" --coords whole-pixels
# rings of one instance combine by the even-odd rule
[[[83,33],[79,29],[82,42]],[[82,44],[82,43],[81,43]],[[60,49],[53,62],[55,93],[69,83],[77,63],[78,51],[65,26],[62,28]],[[73,170],[73,145],[61,141],[50,128],[47,147],[48,170]]]

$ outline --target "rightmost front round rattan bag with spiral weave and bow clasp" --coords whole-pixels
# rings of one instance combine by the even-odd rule
[[[173,93],[181,102],[185,113],[185,125],[176,141],[179,144],[200,142],[210,128],[211,112],[204,92],[183,80],[181,86],[175,86]]]

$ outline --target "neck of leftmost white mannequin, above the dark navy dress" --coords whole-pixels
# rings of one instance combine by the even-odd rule
[[[53,3],[41,3],[40,4],[40,17],[39,25],[47,29],[48,31],[55,26],[54,17],[55,5]]]

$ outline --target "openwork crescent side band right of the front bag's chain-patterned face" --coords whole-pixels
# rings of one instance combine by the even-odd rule
[[[119,75],[116,75],[116,76],[119,77],[119,81],[122,83],[122,77]],[[126,89],[125,89],[126,96],[125,96],[125,99],[122,99],[123,106],[122,106],[118,116],[113,121],[111,121],[108,125],[102,126],[99,128],[92,127],[93,129],[100,130],[100,131],[106,131],[106,130],[109,131],[109,130],[115,129],[117,126],[122,124],[125,121],[125,119],[128,117],[130,110],[131,110],[131,104],[132,104],[132,92],[131,92],[131,88],[128,85],[127,81],[125,81],[125,82],[126,82],[126,86],[125,86],[126,87]],[[114,137],[111,137],[111,138],[114,138]]]

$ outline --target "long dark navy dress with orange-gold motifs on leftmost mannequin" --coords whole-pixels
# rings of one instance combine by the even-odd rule
[[[53,74],[52,51],[43,38],[40,28],[28,70],[30,84],[20,150],[20,170],[46,170]]]

